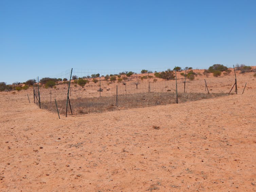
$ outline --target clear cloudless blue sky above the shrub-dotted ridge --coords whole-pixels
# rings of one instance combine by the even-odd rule
[[[0,82],[216,63],[256,65],[255,0],[0,0]]]

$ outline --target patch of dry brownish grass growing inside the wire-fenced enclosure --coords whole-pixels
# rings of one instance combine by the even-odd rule
[[[224,96],[224,93],[180,93],[178,102],[195,101],[206,98]],[[57,101],[58,109],[61,114],[66,114],[66,99]],[[139,93],[129,95],[118,95],[118,105],[116,106],[116,97],[94,97],[83,99],[70,99],[73,114],[101,113],[106,111],[116,111],[130,108],[144,108],[154,105],[166,105],[176,103],[175,93]],[[56,112],[56,107],[52,103],[42,102],[41,107]],[[68,107],[70,113],[70,108]]]

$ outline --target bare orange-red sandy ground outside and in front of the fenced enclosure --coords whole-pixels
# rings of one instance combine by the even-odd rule
[[[61,119],[26,91],[2,92],[0,190],[256,191],[250,83],[243,95]]]

